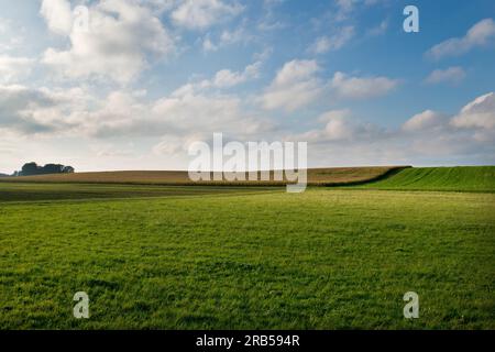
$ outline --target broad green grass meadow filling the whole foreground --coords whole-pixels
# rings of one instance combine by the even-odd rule
[[[0,329],[495,329],[495,194],[473,183],[0,183]]]

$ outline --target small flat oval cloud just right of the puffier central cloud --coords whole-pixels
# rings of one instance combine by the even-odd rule
[[[398,80],[387,77],[349,77],[338,72],[331,86],[344,99],[367,99],[384,96],[395,89]]]

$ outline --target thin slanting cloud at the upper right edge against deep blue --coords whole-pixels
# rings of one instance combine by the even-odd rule
[[[485,19],[474,24],[462,37],[453,37],[431,47],[427,55],[435,59],[464,54],[495,38],[495,22]]]

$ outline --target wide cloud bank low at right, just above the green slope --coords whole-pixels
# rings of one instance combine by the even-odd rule
[[[311,165],[370,165],[411,163],[438,165],[490,164],[495,161],[495,94],[476,98],[457,116],[426,110],[411,117],[399,129],[384,129],[355,119],[349,109],[322,113],[319,128],[287,135],[306,141]]]

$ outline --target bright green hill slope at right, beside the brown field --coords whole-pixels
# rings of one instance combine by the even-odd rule
[[[495,166],[406,168],[364,188],[495,191]]]

